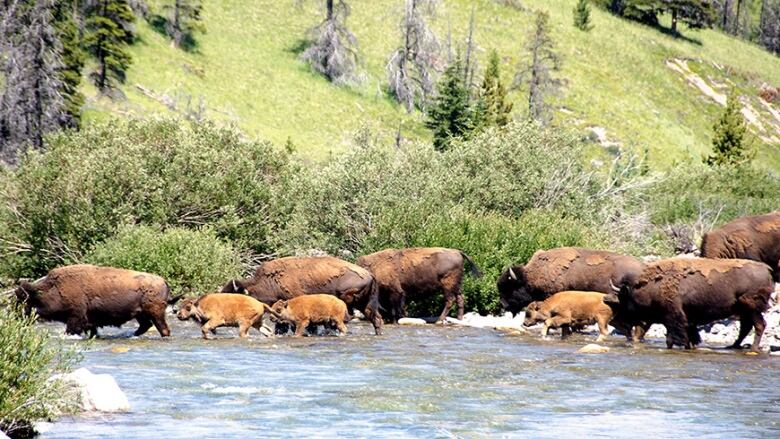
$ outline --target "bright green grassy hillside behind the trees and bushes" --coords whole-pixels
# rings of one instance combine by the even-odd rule
[[[290,139],[314,160],[343,150],[363,123],[388,141],[399,124],[405,137],[427,138],[422,115],[406,114],[383,91],[385,63],[399,41],[403,0],[350,2],[348,26],[359,40],[366,76],[361,85],[350,88],[331,85],[298,61],[302,37],[323,15],[323,2],[302,3],[296,7],[293,0],[207,1],[208,31],[198,36],[194,53],[171,47],[149,24],[139,22],[140,41],[132,50],[134,63],[123,89],[127,100],[99,98],[87,86],[87,118],[183,112],[202,102],[207,117],[278,145]],[[651,162],[660,167],[706,154],[712,122],[720,111],[717,99],[705,95],[695,86],[695,78],[686,79],[670,63],[682,60],[699,83],[710,84],[719,93],[735,84],[746,96],[755,97],[764,82],[780,86],[780,58],[716,31],[684,29],[695,41],[674,39],[594,8],[595,28],[584,33],[571,24],[575,0],[524,0],[525,11],[493,0],[440,3],[434,26],[442,40],[451,29],[456,43],[463,40],[471,5],[476,5],[479,59],[484,66],[489,50],[497,49],[506,81],[522,55],[532,10],[548,10],[564,61],[561,77],[567,80],[556,98],[558,121],[583,133],[595,128],[605,144],[647,147]],[[157,6],[155,1],[150,4]],[[516,101],[516,116],[522,116],[523,90],[512,92],[511,98]],[[780,119],[770,113],[778,108],[751,102],[746,105],[758,118],[754,131],[764,138],[756,141],[759,163],[780,169]]]

